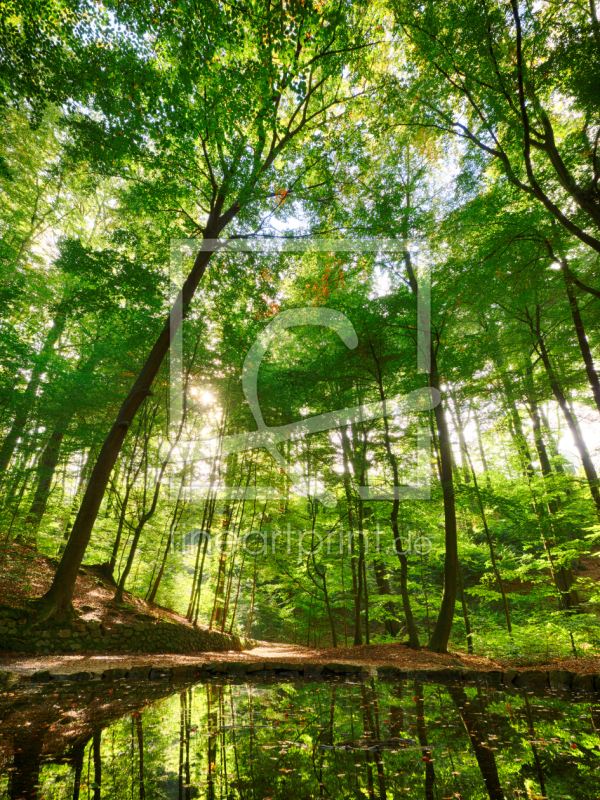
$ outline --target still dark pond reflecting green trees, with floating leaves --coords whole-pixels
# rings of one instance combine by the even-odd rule
[[[0,797],[598,798],[600,697],[417,679],[19,684]]]

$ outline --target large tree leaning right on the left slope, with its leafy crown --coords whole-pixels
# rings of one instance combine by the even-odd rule
[[[123,92],[120,97],[109,100],[106,90],[98,93],[96,100],[105,114],[103,122],[85,118],[75,123],[80,136],[87,135],[88,142],[95,145],[95,160],[102,159],[106,163],[101,151],[105,147],[103,139],[107,139],[106,147],[111,147],[113,157],[123,161],[128,157],[130,162],[137,161],[146,169],[168,176],[167,185],[176,206],[181,202],[185,182],[182,185],[177,177],[172,159],[178,161],[186,150],[193,156],[194,165],[196,159],[200,159],[202,166],[194,166],[192,174],[201,182],[201,209],[206,216],[204,224],[192,224],[194,233],[202,236],[202,246],[169,320],[121,405],[92,469],[69,541],[40,607],[43,618],[65,612],[70,607],[77,570],[127,430],[143,400],[151,394],[152,383],[181,324],[181,309],[185,315],[215,249],[223,246],[214,243],[236,217],[240,225],[258,221],[261,204],[257,201],[265,194],[273,195],[265,192],[261,184],[265,179],[272,180],[278,160],[288,155],[292,145],[299,147],[301,140],[324,124],[330,109],[353,98],[348,81],[339,75],[341,64],[348,63],[348,56],[367,46],[363,26],[357,33],[352,32],[350,20],[337,11],[327,20],[327,26],[322,23],[321,16],[308,7],[298,5],[295,11],[298,19],[291,16],[291,9],[286,12],[282,7],[269,7],[266,10],[260,5],[256,16],[233,8],[226,13],[208,12],[201,18],[201,25],[206,26],[206,33],[210,31],[214,36],[211,39],[192,38],[195,18],[179,21],[168,12],[169,23],[175,23],[165,42],[169,67],[165,69],[155,61],[152,64],[154,82],[149,84],[146,81],[150,77],[150,66],[144,62],[135,65],[134,71],[139,70],[143,75],[139,80],[144,81],[138,105],[130,100],[131,96],[135,98],[139,88],[132,78],[133,95]],[[123,13],[135,14],[129,7]],[[141,16],[136,21],[137,30],[141,31],[140,26],[145,26],[146,21]],[[318,29],[315,29],[317,23]],[[162,33],[164,35],[164,29]],[[224,45],[227,49],[221,51]],[[276,51],[277,46],[282,49]],[[181,60],[182,53],[185,53],[185,61]],[[112,51],[108,53],[111,68],[118,66],[123,70],[127,66],[131,70],[130,50],[124,47],[116,55],[115,60]],[[217,71],[215,80],[210,64],[219,63],[220,55],[226,63],[224,69]],[[96,63],[105,61],[104,54],[97,49],[91,58],[94,56],[98,59]],[[177,76],[174,82],[173,74]],[[229,102],[234,87],[240,98],[239,106]],[[139,102],[158,104],[163,92],[170,103],[163,106],[159,119],[153,119],[153,127],[148,130],[148,135],[161,147],[160,158],[157,158],[141,140]],[[203,96],[202,104],[196,102],[198,94]],[[120,107],[127,109],[123,121],[119,119],[123,113],[118,110]],[[178,124],[183,136],[176,140],[170,140],[166,133],[168,125],[174,121],[170,119],[171,108],[177,109],[179,120],[186,119],[182,130]],[[152,112],[157,110],[157,106],[152,108]],[[148,118],[144,116],[144,119]],[[119,144],[118,137],[122,133],[129,152]],[[286,178],[291,179],[289,173]],[[292,185],[301,179],[301,175],[297,176]],[[153,188],[156,183],[151,184],[150,190]],[[161,188],[164,192],[166,187],[162,184]],[[176,212],[185,213],[187,218],[183,208],[176,208]]]

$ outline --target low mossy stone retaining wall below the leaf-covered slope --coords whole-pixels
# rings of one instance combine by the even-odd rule
[[[157,620],[131,623],[36,623],[27,611],[0,606],[3,653],[198,653],[241,650],[237,636]]]

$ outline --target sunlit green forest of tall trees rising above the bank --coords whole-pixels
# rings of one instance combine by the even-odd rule
[[[598,655],[595,0],[0,19],[1,601]]]

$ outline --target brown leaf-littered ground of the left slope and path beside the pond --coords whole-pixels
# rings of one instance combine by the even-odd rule
[[[42,595],[50,586],[55,562],[31,548],[12,545],[2,557],[0,553],[0,602],[23,608],[34,597]],[[588,569],[600,571],[597,559]],[[596,576],[594,576],[596,577]],[[124,602],[113,601],[115,587],[104,576],[100,565],[84,566],[77,578],[73,604],[82,619],[97,620],[104,624],[136,622],[151,619],[169,619],[181,625],[191,626],[185,617],[156,603],[148,603],[139,597],[124,593]],[[202,630],[206,626],[198,625]],[[37,670],[59,670],[78,672],[83,670],[103,671],[111,667],[133,667],[151,663],[155,667],[182,664],[197,664],[210,661],[284,662],[286,664],[328,663],[350,661],[367,666],[393,665],[406,671],[427,670],[457,666],[477,672],[506,669],[563,669],[580,674],[600,673],[600,658],[568,658],[549,660],[545,663],[527,664],[519,659],[468,655],[463,652],[447,654],[415,651],[400,642],[371,644],[353,647],[316,649],[301,645],[256,642],[243,652],[202,652],[192,655],[180,654],[54,654],[48,656],[0,654],[0,669],[10,669],[22,674]]]

